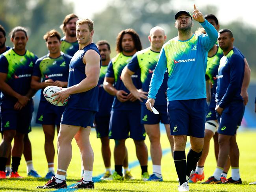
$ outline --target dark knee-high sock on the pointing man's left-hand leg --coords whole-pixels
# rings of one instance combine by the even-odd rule
[[[185,151],[173,151],[173,159],[180,185],[187,182],[186,179],[186,153]]]

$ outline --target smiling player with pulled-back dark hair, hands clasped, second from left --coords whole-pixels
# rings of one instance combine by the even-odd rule
[[[26,50],[28,35],[25,28],[20,26],[13,28],[10,36],[14,47],[0,56],[0,89],[3,91],[1,115],[4,135],[0,144],[0,178],[6,178],[5,166],[13,138],[15,142],[11,151],[10,177],[21,178],[18,168],[24,150],[24,137],[31,131],[32,96],[35,92],[30,89],[30,81],[37,56]]]

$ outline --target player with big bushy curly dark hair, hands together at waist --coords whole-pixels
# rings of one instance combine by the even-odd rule
[[[114,159],[115,172],[107,180],[130,179],[127,173],[122,176],[122,164],[127,154],[125,140],[134,140],[136,155],[141,165],[141,175],[148,174],[148,153],[145,145],[145,129],[140,123],[141,108],[137,98],[124,86],[121,79],[123,68],[132,56],[142,49],[139,35],[132,29],[122,30],[117,36],[117,55],[108,65],[104,79],[104,89],[115,96],[109,123],[109,138],[115,139]],[[139,71],[132,76],[137,89],[141,88]],[[115,87],[113,86],[115,84]],[[130,133],[130,134],[129,134]],[[144,177],[144,176],[143,176]]]

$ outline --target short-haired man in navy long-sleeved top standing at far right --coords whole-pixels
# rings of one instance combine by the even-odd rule
[[[228,155],[232,167],[232,177],[224,181],[224,183],[241,184],[236,130],[243,117],[244,103],[240,93],[243,84],[245,61],[241,52],[233,46],[234,37],[230,30],[222,29],[219,31],[218,43],[224,54],[218,69],[217,106],[215,108],[219,122],[219,155],[217,168],[213,176],[209,177],[204,184],[222,183],[221,173],[228,160]]]

